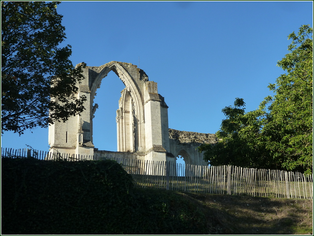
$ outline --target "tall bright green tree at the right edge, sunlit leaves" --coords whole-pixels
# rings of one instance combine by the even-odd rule
[[[293,32],[288,39],[292,39],[290,53],[277,64],[287,73],[268,86],[275,95],[263,103],[271,104],[263,133],[266,148],[284,169],[312,173],[313,29],[302,25],[298,34]]]

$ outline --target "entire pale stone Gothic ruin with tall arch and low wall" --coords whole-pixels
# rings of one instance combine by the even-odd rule
[[[93,118],[98,107],[94,98],[110,71],[126,86],[116,111],[117,152],[98,150],[93,144]],[[182,156],[186,164],[207,165],[196,147],[217,142],[215,135],[169,129],[165,99],[158,94],[157,83],[149,81],[143,70],[131,63],[109,62],[100,67],[87,66],[83,75],[77,96],[87,97],[86,110],[49,126],[50,152],[174,162]]]

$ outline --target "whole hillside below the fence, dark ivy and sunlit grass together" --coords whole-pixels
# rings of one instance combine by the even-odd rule
[[[313,200],[134,186],[112,160],[1,159],[1,234],[312,234]]]

